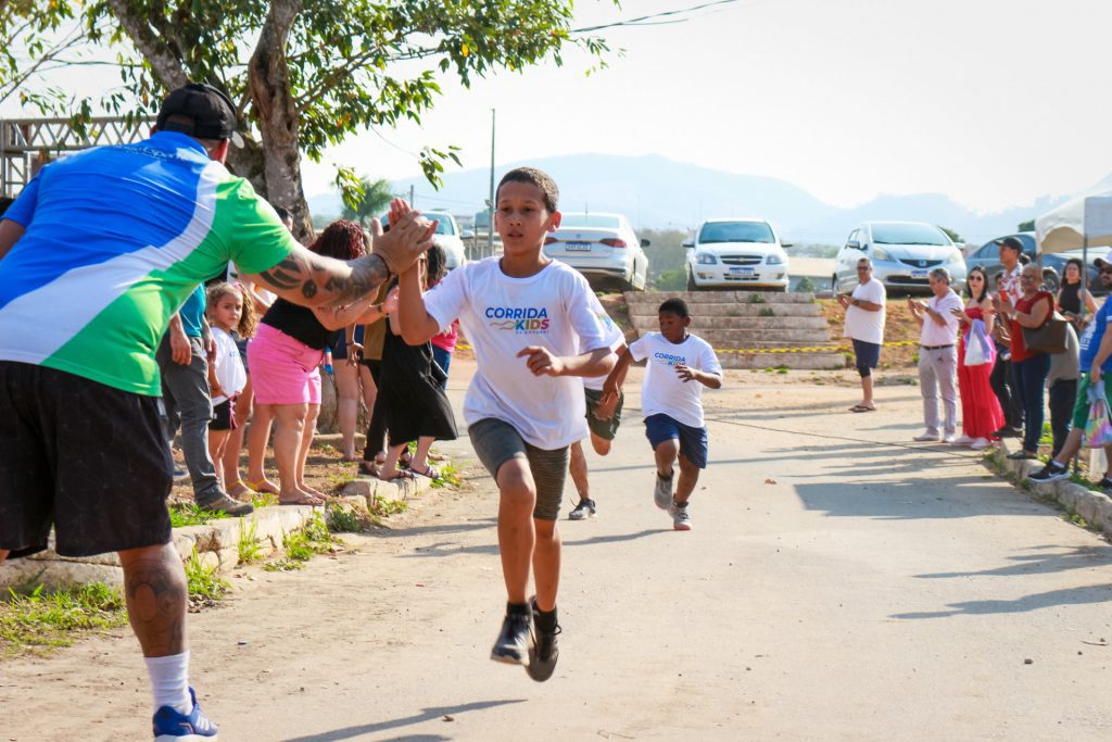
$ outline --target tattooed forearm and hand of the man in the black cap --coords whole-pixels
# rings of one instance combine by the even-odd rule
[[[371,255],[345,263],[296,247],[278,265],[248,278],[302,306],[353,304],[409,268],[433,244],[435,231],[435,221],[410,211],[387,234],[375,235]]]

